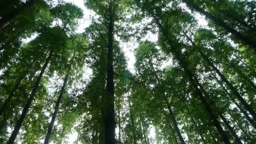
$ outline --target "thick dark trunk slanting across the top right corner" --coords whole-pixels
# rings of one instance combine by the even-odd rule
[[[235,29],[230,27],[228,24],[226,24],[223,20],[217,18],[216,16],[213,16],[213,14],[208,13],[207,11],[204,11],[202,8],[197,6],[195,3],[193,3],[192,0],[182,0],[184,3],[187,4],[188,7],[194,9],[195,11],[201,13],[206,18],[211,19],[214,21],[214,23],[220,27],[223,27],[227,32],[230,32],[232,35],[234,35],[238,40],[241,40],[245,45],[249,45],[251,48],[256,51],[256,42],[251,40],[250,38],[244,36],[241,32],[237,32]]]

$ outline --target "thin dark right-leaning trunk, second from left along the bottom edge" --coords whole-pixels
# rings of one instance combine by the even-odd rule
[[[68,72],[68,73],[69,73],[69,72]],[[49,141],[50,141],[51,131],[52,131],[52,129],[53,129],[53,124],[54,124],[55,119],[56,119],[56,117],[57,117],[57,113],[58,113],[58,111],[59,111],[59,105],[61,104],[61,99],[62,99],[62,97],[63,97],[63,93],[64,93],[64,91],[65,91],[65,87],[66,87],[66,85],[67,85],[67,80],[68,80],[68,77],[69,77],[69,74],[68,74],[68,73],[67,73],[67,75],[65,76],[64,83],[63,83],[63,85],[62,85],[62,87],[61,87],[61,92],[60,92],[59,97],[58,97],[58,99],[57,99],[57,101],[56,101],[56,104],[55,104],[55,107],[54,107],[54,112],[53,112],[53,115],[52,115],[52,117],[51,117],[51,122],[50,122],[49,125],[48,125],[48,130],[47,130],[47,134],[46,134],[46,136],[45,136],[44,144],[48,144]]]

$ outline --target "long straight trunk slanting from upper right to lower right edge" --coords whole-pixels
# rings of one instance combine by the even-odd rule
[[[184,33],[185,34],[185,33]],[[234,93],[234,95],[236,96],[236,98],[241,102],[241,104],[243,104],[243,106],[245,107],[246,110],[248,110],[248,112],[252,115],[253,117],[253,121],[256,122],[256,113],[254,112],[253,108],[245,101],[245,99],[243,99],[243,96],[240,95],[240,93],[238,93],[237,89],[232,85],[232,83],[229,82],[229,80],[227,80],[227,78],[219,71],[219,69],[217,67],[215,67],[215,65],[213,64],[213,62],[211,62],[211,60],[208,58],[208,56],[206,56],[199,47],[197,47],[197,45],[190,39],[190,37],[187,36],[187,34],[185,34],[186,37],[189,39],[189,41],[192,43],[192,45],[196,46],[198,53],[200,54],[200,56],[202,56],[202,58],[206,61],[206,63],[213,68],[213,70],[221,77],[221,80],[224,81],[224,83],[226,83],[226,85],[229,87],[229,89]]]

